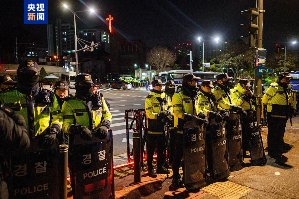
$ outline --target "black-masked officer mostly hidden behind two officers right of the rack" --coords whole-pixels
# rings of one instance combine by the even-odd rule
[[[172,80],[165,83],[165,93],[168,96],[168,101],[170,101],[171,104],[172,104],[173,94],[175,93],[176,90],[176,86],[177,84],[174,83]],[[172,116],[174,117],[174,113],[172,114]],[[169,149],[167,150],[169,155],[169,164],[172,164],[174,149],[176,148],[176,137],[173,131],[173,122],[168,128],[169,128]]]

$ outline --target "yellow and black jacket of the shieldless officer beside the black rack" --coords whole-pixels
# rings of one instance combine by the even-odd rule
[[[161,99],[167,99],[166,102],[159,102],[157,97]],[[161,107],[162,105],[162,107]],[[165,123],[161,119],[157,119],[158,114],[161,111],[170,110],[173,114],[172,103],[169,97],[163,92],[161,94],[150,92],[148,97],[145,99],[145,112],[147,114],[147,129],[149,134],[163,134]]]

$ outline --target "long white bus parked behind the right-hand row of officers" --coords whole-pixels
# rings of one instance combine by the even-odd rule
[[[173,80],[178,86],[176,90],[182,88],[183,76],[185,74],[191,73],[188,70],[172,70],[164,71],[158,74],[158,79],[161,79],[163,83]],[[195,76],[200,77],[200,80],[197,82],[202,82],[203,80],[216,81],[216,75],[219,73],[213,72],[192,72]]]

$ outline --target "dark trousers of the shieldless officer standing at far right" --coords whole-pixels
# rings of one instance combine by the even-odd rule
[[[284,131],[286,130],[286,118],[271,117],[271,113],[267,112],[269,115],[268,122],[268,152],[272,153],[280,146],[280,141],[283,140]]]

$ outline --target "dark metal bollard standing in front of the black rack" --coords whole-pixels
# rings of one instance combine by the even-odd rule
[[[133,133],[133,154],[134,154],[134,182],[141,182],[141,147],[140,135],[138,132]]]

